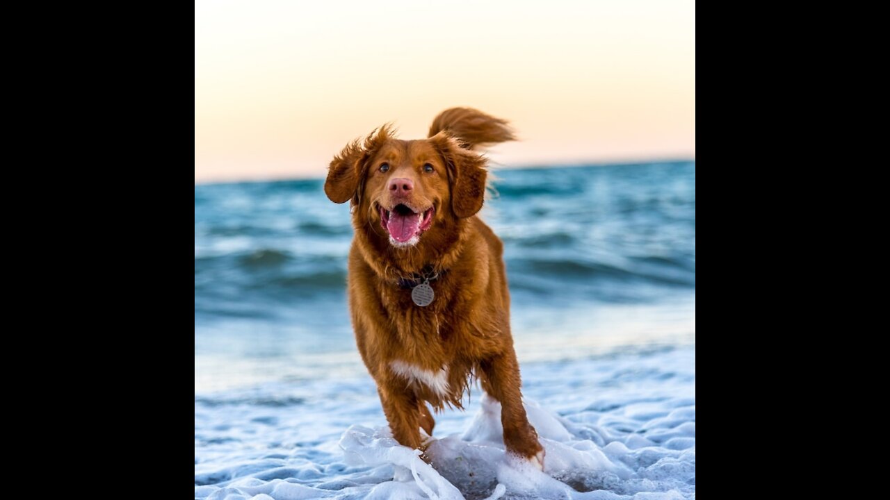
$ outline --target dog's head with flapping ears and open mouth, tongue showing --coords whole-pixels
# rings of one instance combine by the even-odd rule
[[[325,193],[351,201],[357,227],[371,224],[392,246],[415,246],[428,231],[454,227],[482,207],[486,160],[447,132],[401,141],[383,126],[331,162]]]

